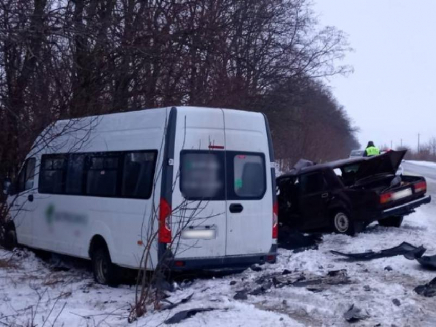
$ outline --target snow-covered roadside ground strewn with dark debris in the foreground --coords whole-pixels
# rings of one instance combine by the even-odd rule
[[[401,256],[349,262],[330,253],[375,251],[406,241],[423,244],[427,255],[436,254],[434,209],[432,204],[419,208],[405,218],[401,228],[373,224],[355,237],[326,234],[316,251],[280,250],[278,263],[264,265],[260,272],[247,269],[241,274],[182,284],[183,290],[171,293],[169,300],[176,302],[193,293],[191,301],[172,310],[150,311],[133,325],[157,326],[181,310],[210,307],[216,310],[199,313],[178,326],[348,326],[343,313],[355,304],[370,315],[359,326],[435,326],[436,298],[419,296],[413,289],[436,277],[436,272]],[[385,270],[387,266],[392,271]],[[328,285],[317,293],[304,287],[272,287],[265,294],[248,295],[247,300],[233,299],[257,278],[285,269],[316,276],[346,269],[351,283]],[[46,326],[124,326],[133,299],[134,287],[96,285],[84,267],[73,265],[60,271],[29,250],[14,254],[0,250],[0,325],[28,325],[33,320],[42,326],[47,320]]]

